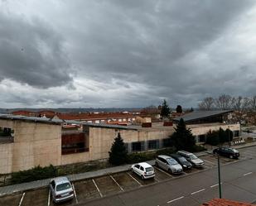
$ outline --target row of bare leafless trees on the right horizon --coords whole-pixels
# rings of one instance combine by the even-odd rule
[[[234,97],[228,94],[221,94],[217,98],[206,97],[199,104],[200,110],[235,110],[238,112],[254,111],[256,112],[256,96],[253,97]]]

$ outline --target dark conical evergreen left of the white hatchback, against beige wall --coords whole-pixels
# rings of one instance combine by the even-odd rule
[[[114,138],[114,142],[111,146],[111,151],[109,151],[109,163],[113,165],[122,165],[127,160],[127,150],[123,143],[123,138],[120,133],[118,137]]]

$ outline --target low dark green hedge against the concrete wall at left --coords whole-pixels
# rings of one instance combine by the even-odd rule
[[[20,184],[23,182],[31,182],[35,180],[43,180],[57,175],[56,168],[53,165],[41,167],[40,165],[31,170],[23,170],[12,173],[12,184]]]

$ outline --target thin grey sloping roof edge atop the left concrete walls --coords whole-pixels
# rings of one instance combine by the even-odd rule
[[[57,125],[62,125],[63,123],[67,123],[67,124],[84,125],[89,127],[105,127],[105,128],[114,128],[114,129],[124,129],[124,130],[138,130],[135,127],[128,127],[128,126],[78,122],[74,120],[62,120],[62,119],[47,118],[47,117],[27,117],[22,115],[12,115],[12,114],[3,114],[3,113],[0,113],[0,119],[22,120],[27,122],[40,122],[40,123],[57,124]]]

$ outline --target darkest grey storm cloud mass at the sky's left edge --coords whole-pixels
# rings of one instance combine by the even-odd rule
[[[67,84],[70,63],[62,38],[38,18],[0,12],[0,77],[49,88]]]

